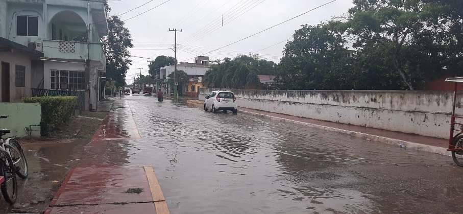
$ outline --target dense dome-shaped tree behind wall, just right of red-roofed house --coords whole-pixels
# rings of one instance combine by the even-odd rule
[[[346,40],[332,25],[304,25],[284,47],[280,89],[346,89],[354,84],[349,76],[351,59]]]

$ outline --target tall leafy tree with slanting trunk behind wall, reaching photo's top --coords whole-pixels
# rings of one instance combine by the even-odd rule
[[[357,38],[353,46],[359,49],[361,56],[368,58],[381,53],[370,65],[380,63],[386,70],[393,71],[389,76],[400,77],[400,88],[413,90],[420,87],[426,77],[440,72],[438,67],[422,64],[435,64],[441,58],[437,53],[424,54],[417,42],[425,29],[422,1],[354,0],[349,13],[347,32]],[[371,68],[367,65],[363,69]]]

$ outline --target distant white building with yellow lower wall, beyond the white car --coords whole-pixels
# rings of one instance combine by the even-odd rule
[[[210,69],[209,57],[198,56],[194,59],[194,63],[185,62],[177,64],[177,70],[183,70],[189,78],[189,82],[185,85],[179,85],[179,93],[190,96],[198,97],[200,88],[205,87],[203,85],[203,76],[207,70]],[[167,77],[174,72],[174,65],[164,66],[160,69],[160,79],[164,84],[161,85],[161,90],[165,93],[172,93],[173,89],[170,89]]]

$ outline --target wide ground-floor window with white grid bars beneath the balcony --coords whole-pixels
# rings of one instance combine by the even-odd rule
[[[82,70],[50,70],[51,88],[83,90],[84,72]]]

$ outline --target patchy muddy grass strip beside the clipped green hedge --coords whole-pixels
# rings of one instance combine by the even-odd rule
[[[95,118],[103,119],[107,114],[107,112],[83,111],[83,116],[94,118],[72,117],[67,124],[62,124],[58,127],[55,127],[55,129],[50,132],[50,137],[60,139],[91,139],[95,131],[100,128],[102,123],[101,120],[97,120]]]

